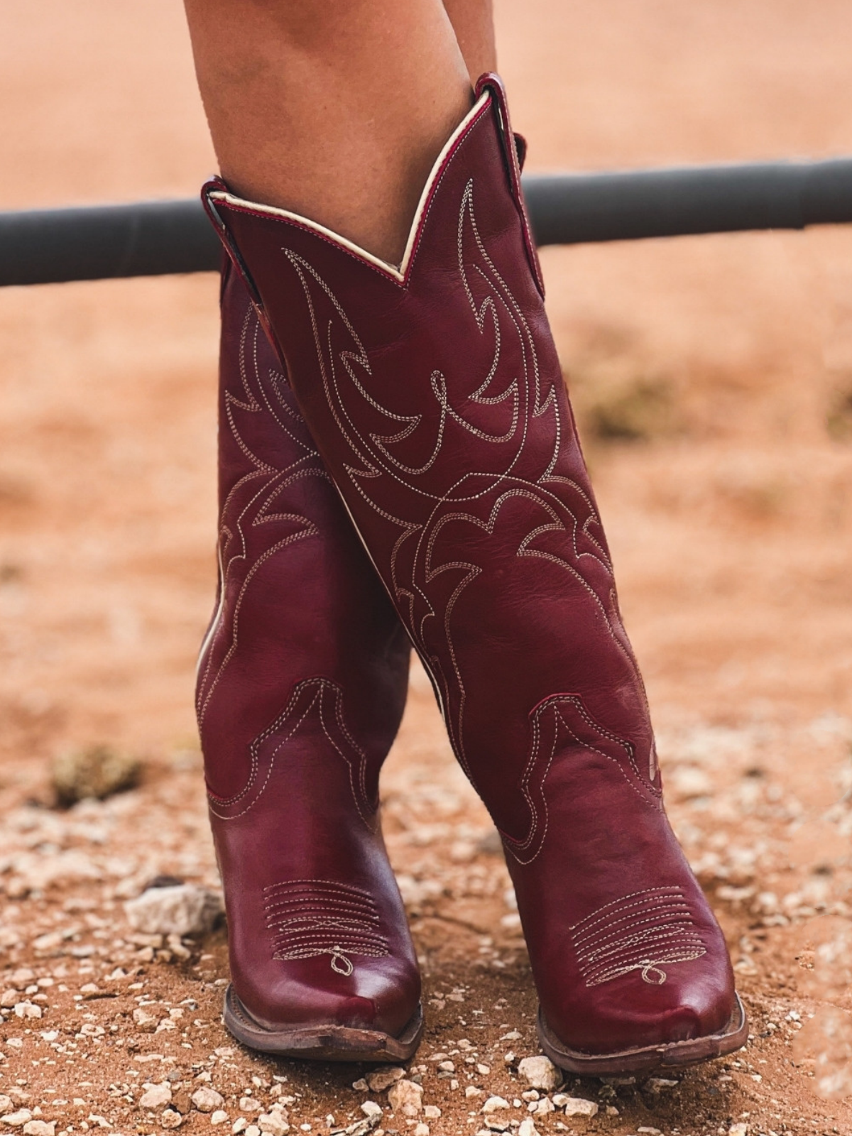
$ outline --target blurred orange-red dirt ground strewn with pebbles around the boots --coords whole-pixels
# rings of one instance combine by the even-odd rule
[[[3,8],[0,208],[195,192],[214,161],[178,0]],[[498,0],[498,20],[532,169],[852,150],[846,0]],[[852,229],[543,260],[670,812],[730,943],[747,1049],[674,1084],[569,1078],[591,1120],[523,1096],[506,1054],[537,1052],[535,997],[508,876],[419,670],[383,793],[426,985],[408,1076],[428,1114],[353,1088],[358,1067],[228,1038],[224,930],[167,944],[123,907],[158,875],[217,884],[192,716],[216,281],[7,289],[0,1131],[212,1117],[229,1134],[277,1101],[291,1131],[327,1133],[370,1099],[385,1131],[474,1134],[499,1094],[512,1133],[531,1117],[541,1134],[852,1133]],[[52,808],[51,761],[94,743],[139,755],[140,787]],[[168,1117],[140,1104],[164,1081]],[[199,1087],[216,1113],[189,1103]]]

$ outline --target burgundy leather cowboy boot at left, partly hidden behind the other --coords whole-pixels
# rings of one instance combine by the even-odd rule
[[[245,1045],[407,1060],[420,979],[378,821],[406,634],[240,277],[222,292],[219,596],[197,709]]]

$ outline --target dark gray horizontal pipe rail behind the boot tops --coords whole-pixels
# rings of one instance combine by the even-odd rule
[[[540,245],[852,222],[852,158],[524,178]],[[0,285],[212,272],[201,204],[0,212]]]

